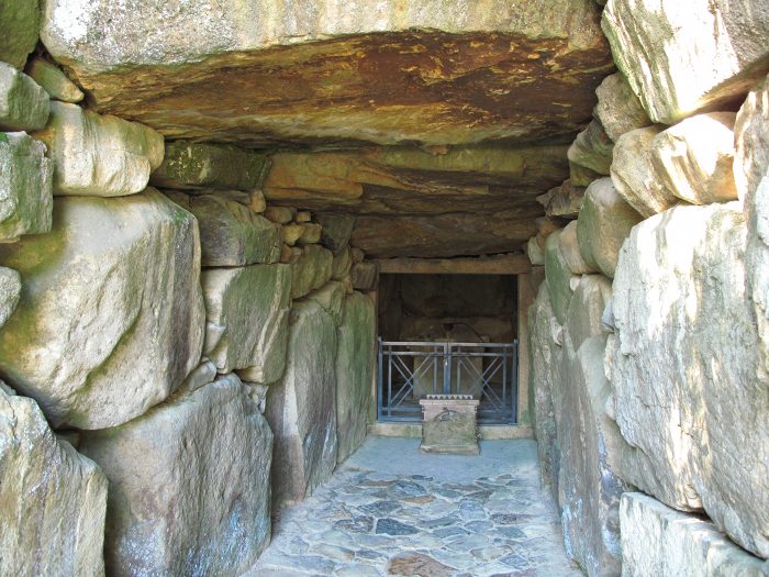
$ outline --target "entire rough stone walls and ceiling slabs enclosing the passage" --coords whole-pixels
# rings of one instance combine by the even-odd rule
[[[245,573],[371,257],[521,252],[569,556],[769,575],[767,1],[311,4],[0,2],[0,574]]]

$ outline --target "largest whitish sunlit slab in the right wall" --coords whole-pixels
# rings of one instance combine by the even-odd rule
[[[746,292],[737,203],[677,207],[620,255],[610,347],[622,476],[677,509],[704,508],[769,556],[769,380]],[[643,287],[643,290],[639,290]]]

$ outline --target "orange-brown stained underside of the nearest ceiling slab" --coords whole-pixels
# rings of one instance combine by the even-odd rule
[[[613,66],[598,35],[578,48],[500,32],[360,34],[107,71],[55,55],[102,113],[169,138],[255,146],[571,135]]]

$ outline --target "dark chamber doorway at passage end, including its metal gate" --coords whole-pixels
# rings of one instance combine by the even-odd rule
[[[421,421],[427,395],[470,395],[481,424],[517,421],[517,277],[381,275],[377,417]]]

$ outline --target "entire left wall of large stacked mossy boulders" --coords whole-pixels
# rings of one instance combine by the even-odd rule
[[[0,54],[26,49],[15,32]],[[350,225],[268,209],[264,153],[180,142],[161,164],[151,129],[0,73],[0,129],[37,131],[0,133],[0,374],[19,392],[0,385],[0,573],[239,575],[272,493],[336,466],[337,374],[344,457],[366,433],[375,314]],[[154,169],[172,190],[147,188]]]

